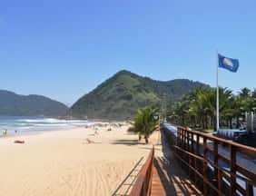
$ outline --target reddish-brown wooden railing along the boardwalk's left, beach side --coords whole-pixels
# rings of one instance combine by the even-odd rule
[[[137,181],[133,186],[130,196],[149,196],[151,194],[152,174],[153,174],[154,147],[149,154],[147,161],[143,164]]]

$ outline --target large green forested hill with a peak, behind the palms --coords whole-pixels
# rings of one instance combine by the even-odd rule
[[[89,119],[131,119],[139,107],[159,106],[163,94],[174,102],[199,86],[208,85],[185,79],[161,82],[121,71],[74,103],[69,115],[80,118],[87,116]]]

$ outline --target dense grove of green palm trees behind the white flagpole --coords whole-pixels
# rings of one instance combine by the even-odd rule
[[[222,126],[232,127],[236,120],[239,128],[239,119],[245,117],[245,112],[256,110],[256,89],[251,91],[242,88],[238,95],[227,88],[219,88],[220,122]],[[171,119],[183,126],[194,127],[198,124],[201,129],[216,128],[216,89],[197,88],[185,95],[172,110]]]

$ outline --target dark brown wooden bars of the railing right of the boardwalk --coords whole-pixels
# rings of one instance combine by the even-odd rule
[[[212,142],[212,148],[209,147],[209,143],[207,141]],[[229,146],[230,157],[222,156],[222,153],[219,152],[219,144]],[[248,195],[253,194],[256,174],[238,164],[237,152],[243,152],[249,156],[256,157],[256,149],[236,142],[226,141],[207,133],[188,130],[183,127],[178,127],[177,146],[175,149],[176,156],[188,167],[189,173],[192,170],[197,176],[202,178],[203,191],[205,194],[207,193],[207,186],[210,186],[212,190],[216,191],[219,195],[222,195],[223,177],[230,183],[230,195],[233,195],[236,191],[240,191],[241,193],[246,193]],[[202,151],[200,151],[200,149]],[[208,159],[208,152],[212,152],[213,161]],[[220,159],[228,163],[230,171],[224,170],[219,166],[218,162]],[[201,168],[198,168],[198,163],[196,161],[202,162]],[[213,167],[213,178],[216,180],[215,182],[217,182],[217,187],[216,184],[214,185],[214,183],[212,183],[212,179],[207,175],[208,165]],[[244,176],[237,173],[237,171]],[[237,179],[244,181],[246,183],[246,187],[241,187],[241,184],[236,181]]]

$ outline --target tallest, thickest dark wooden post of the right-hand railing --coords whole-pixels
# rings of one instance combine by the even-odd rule
[[[233,145],[230,145],[230,152],[231,152],[231,162],[230,162],[230,167],[231,167],[231,173],[236,174],[236,148]],[[231,175],[231,191],[230,191],[230,196],[235,195],[236,191],[236,178],[234,175]]]

